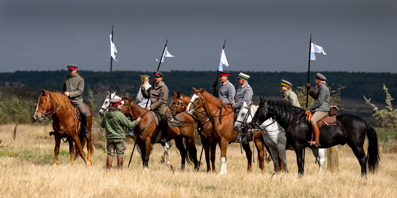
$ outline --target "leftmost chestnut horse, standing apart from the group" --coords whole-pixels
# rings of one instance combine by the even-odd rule
[[[91,112],[90,107],[85,103],[84,105],[87,107],[89,112]],[[92,116],[87,118],[87,126],[90,135],[86,139],[84,137],[84,130],[80,124],[80,120],[76,117],[76,108],[72,106],[69,99],[67,99],[66,96],[59,92],[48,92],[41,90],[41,95],[39,96],[37,102],[37,108],[33,116],[33,120],[43,121],[45,119],[48,119],[50,116],[53,118],[53,129],[55,132],[54,165],[58,165],[59,163],[58,154],[61,139],[63,137],[67,137],[67,142],[69,143],[70,163],[74,164],[74,149],[78,149],[80,157],[83,158],[84,162],[88,166],[91,166],[91,154],[93,152],[91,142]],[[74,146],[73,142],[75,144]],[[86,142],[88,158],[83,151],[83,147]]]

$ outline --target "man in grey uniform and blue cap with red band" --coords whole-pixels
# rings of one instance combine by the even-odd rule
[[[220,71],[219,74],[219,81],[221,84],[217,89],[218,99],[222,100],[228,105],[232,105],[232,103],[234,103],[236,89],[234,88],[233,84],[229,82],[229,72]]]

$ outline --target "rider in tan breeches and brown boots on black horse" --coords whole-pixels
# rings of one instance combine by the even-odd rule
[[[320,146],[319,135],[320,130],[317,126],[317,122],[323,119],[328,115],[330,111],[330,90],[326,85],[327,78],[320,73],[316,74],[316,84],[318,85],[317,92],[314,93],[309,83],[306,83],[307,89],[309,89],[309,95],[315,99],[314,103],[310,105],[307,110],[314,111],[312,118],[310,119],[310,124],[313,128],[314,141],[309,141],[310,145],[314,145],[315,147]],[[306,111],[307,112],[307,111]]]

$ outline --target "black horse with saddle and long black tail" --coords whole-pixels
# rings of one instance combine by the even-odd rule
[[[261,103],[251,122],[251,125],[255,126],[257,122],[263,123],[272,117],[284,128],[288,143],[295,149],[298,173],[301,175],[304,172],[303,149],[309,147],[307,142],[312,139],[312,129],[306,122],[304,113],[305,110],[299,107],[261,97]],[[368,137],[368,158],[364,152],[365,134]],[[347,144],[360,163],[361,176],[367,175],[367,161],[370,172],[375,172],[379,167],[380,155],[376,132],[367,121],[356,115],[337,115],[336,126],[320,128],[320,144],[320,148]]]

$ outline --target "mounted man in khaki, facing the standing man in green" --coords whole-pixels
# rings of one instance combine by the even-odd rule
[[[161,139],[160,142],[162,146],[165,146],[167,132],[168,132],[168,120],[165,115],[165,111],[168,108],[168,88],[163,82],[163,74],[156,71],[154,72],[154,82],[155,85],[146,90],[144,85],[140,86],[142,96],[145,99],[150,99],[152,102],[150,106],[146,107],[146,110],[153,110],[160,114],[161,117]]]

